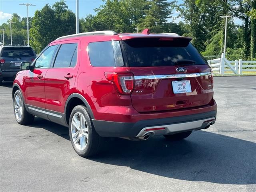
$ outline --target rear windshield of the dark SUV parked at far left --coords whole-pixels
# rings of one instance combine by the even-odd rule
[[[6,47],[3,48],[1,57],[34,57],[31,47]]]

